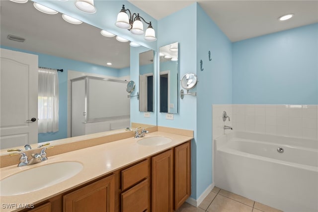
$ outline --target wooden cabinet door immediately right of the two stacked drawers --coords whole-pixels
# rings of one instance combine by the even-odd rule
[[[173,151],[152,158],[152,212],[172,212]]]

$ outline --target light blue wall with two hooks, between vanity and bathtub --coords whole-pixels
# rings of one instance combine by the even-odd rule
[[[203,71],[200,70],[200,60],[203,61]],[[212,104],[232,103],[232,43],[200,5],[197,8],[196,66],[199,81],[196,110],[198,198],[213,182]]]

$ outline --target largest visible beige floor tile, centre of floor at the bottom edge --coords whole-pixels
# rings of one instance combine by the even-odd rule
[[[252,207],[246,206],[230,198],[217,195],[208,208],[208,212],[252,212]]]

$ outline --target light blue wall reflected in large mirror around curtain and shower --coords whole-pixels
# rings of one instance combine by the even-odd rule
[[[105,66],[84,63],[84,62],[71,60],[67,58],[41,54],[37,52],[30,52],[30,51],[10,48],[6,46],[1,46],[1,48],[38,55],[40,67],[64,70],[63,73],[58,72],[58,76],[59,76],[59,131],[49,132],[49,133],[39,133],[38,142],[62,139],[62,138],[66,138],[68,135],[67,133],[67,129],[68,129],[67,127],[68,70],[107,75],[107,76],[113,76],[113,77],[120,77],[121,75],[129,76],[129,68],[118,70],[118,69],[108,68]]]

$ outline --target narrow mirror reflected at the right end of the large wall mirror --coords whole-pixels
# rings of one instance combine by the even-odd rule
[[[154,111],[154,51],[139,54],[139,111]]]

